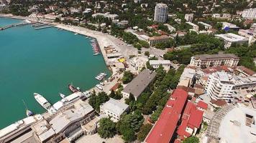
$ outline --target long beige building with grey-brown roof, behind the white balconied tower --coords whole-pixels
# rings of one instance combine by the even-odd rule
[[[200,54],[191,56],[191,66],[237,66],[239,57],[234,54]]]

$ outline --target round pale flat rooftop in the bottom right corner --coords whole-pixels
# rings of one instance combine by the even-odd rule
[[[248,143],[256,141],[256,136],[251,134],[256,130],[255,125],[246,126],[245,114],[250,114],[256,119],[256,110],[247,107],[235,107],[222,119],[219,127],[219,137],[221,142]],[[232,121],[232,122],[231,122]],[[233,122],[235,121],[234,124]]]

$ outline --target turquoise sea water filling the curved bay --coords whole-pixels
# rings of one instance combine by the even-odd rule
[[[0,26],[19,22],[0,18]],[[85,36],[30,25],[0,31],[0,129],[26,117],[22,99],[32,112],[45,111],[34,92],[54,104],[60,100],[58,93],[70,94],[69,83],[90,89],[103,71],[110,74],[103,57],[93,56]]]

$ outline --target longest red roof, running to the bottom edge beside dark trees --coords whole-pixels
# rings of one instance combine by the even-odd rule
[[[170,96],[159,119],[147,135],[147,143],[168,143],[173,137],[180,114],[186,104],[188,93],[183,89],[175,89]],[[171,122],[170,122],[171,121]]]

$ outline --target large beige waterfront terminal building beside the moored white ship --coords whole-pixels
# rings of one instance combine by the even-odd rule
[[[88,102],[76,102],[69,109],[58,112],[50,119],[41,119],[32,124],[35,142],[55,143],[65,138],[73,142],[81,135],[87,134],[81,126],[90,122],[94,115],[94,109]]]

